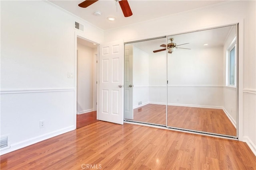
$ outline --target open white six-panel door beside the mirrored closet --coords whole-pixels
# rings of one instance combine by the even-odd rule
[[[123,124],[124,121],[124,43],[100,45],[99,119]]]

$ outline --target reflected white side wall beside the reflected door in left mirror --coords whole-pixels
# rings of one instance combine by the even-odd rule
[[[133,107],[148,104],[149,93],[149,58],[148,53],[133,46]],[[142,105],[139,106],[139,102]]]

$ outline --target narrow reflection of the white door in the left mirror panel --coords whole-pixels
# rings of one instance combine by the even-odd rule
[[[133,119],[133,45],[125,45],[125,86],[124,86],[124,118]]]

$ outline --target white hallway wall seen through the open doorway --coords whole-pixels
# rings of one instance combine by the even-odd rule
[[[94,111],[94,51],[95,49],[77,43],[77,114]]]

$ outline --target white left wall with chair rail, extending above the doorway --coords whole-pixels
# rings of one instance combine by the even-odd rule
[[[76,31],[74,21],[87,32]],[[44,1],[1,1],[0,133],[10,135],[11,147],[1,154],[76,129],[75,32],[104,38]]]

